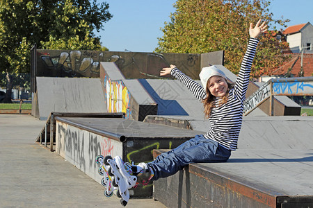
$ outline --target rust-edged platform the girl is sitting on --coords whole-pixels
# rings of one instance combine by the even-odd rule
[[[166,151],[154,150],[154,157]],[[190,164],[175,175],[154,181],[153,197],[167,207],[311,207],[313,205],[313,183],[310,176],[312,157],[267,159],[266,162],[266,159],[262,161],[250,159],[250,153],[244,154],[248,155],[246,162],[250,162],[244,165],[246,168],[242,164],[243,160],[237,158],[239,155],[235,155],[235,159],[231,157],[226,163]],[[280,155],[285,154],[282,152]],[[264,154],[264,157],[266,156],[268,155]],[[259,164],[256,164],[257,162]],[[276,165],[281,162],[289,162],[289,165],[294,166],[298,171],[305,169],[309,174],[293,177],[289,173],[293,171],[292,168],[287,171],[284,167],[288,165],[287,163]],[[263,171],[261,169],[256,171],[257,168],[251,169],[253,166]],[[273,171],[268,168],[273,168]]]

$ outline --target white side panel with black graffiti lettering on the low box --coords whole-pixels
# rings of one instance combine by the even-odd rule
[[[56,153],[100,183],[102,176],[97,173],[95,158],[122,156],[122,143],[57,121]]]

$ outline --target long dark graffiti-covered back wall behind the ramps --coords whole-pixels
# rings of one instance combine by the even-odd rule
[[[125,78],[160,78],[163,67],[176,64],[187,76],[198,79],[200,61],[200,54],[187,53],[38,49],[34,76],[98,78],[100,62],[115,62]]]

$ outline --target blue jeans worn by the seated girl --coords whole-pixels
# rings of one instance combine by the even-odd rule
[[[196,135],[168,153],[159,155],[147,165],[154,171],[151,180],[158,180],[159,177],[174,175],[191,163],[226,162],[230,153],[231,150],[220,146],[218,142]]]

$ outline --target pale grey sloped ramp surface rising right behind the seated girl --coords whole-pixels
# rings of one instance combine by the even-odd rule
[[[174,125],[207,132],[209,120],[188,116],[147,116],[147,123]],[[241,149],[313,149],[312,116],[244,116],[239,134]]]

